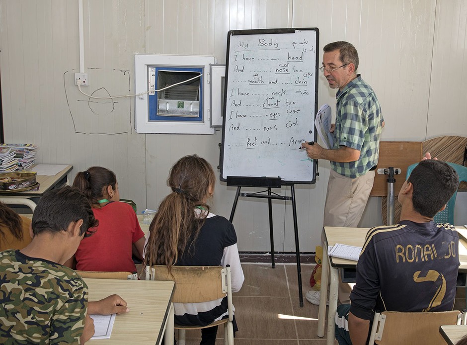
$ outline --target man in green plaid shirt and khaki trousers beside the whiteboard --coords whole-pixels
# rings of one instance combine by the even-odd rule
[[[320,71],[330,88],[338,88],[336,123],[330,129],[336,140],[330,150],[317,143],[303,143],[302,147],[311,159],[325,159],[331,164],[324,226],[357,227],[373,187],[384,119],[375,92],[357,74],[355,47],[340,41],[327,44],[323,51]],[[350,288],[343,288],[339,289],[339,300],[346,303]],[[319,303],[315,291],[306,297],[311,303]]]

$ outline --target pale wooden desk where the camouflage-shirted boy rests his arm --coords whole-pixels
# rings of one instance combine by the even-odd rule
[[[110,339],[90,340],[89,345],[173,345],[173,281],[84,278],[89,301],[117,294],[130,311],[117,315]]]

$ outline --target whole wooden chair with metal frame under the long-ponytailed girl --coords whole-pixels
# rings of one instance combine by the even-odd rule
[[[175,282],[174,303],[200,303],[224,298],[227,295],[229,318],[207,326],[174,325],[178,331],[178,344],[185,344],[186,330],[199,330],[224,324],[224,344],[233,345],[233,304],[230,266],[172,266],[171,274],[165,265],[146,267],[146,280]]]

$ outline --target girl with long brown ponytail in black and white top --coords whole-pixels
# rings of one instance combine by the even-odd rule
[[[226,218],[209,212],[207,204],[215,181],[211,165],[197,155],[185,156],[175,163],[167,180],[172,192],[162,200],[150,225],[144,264],[162,264],[169,270],[172,265],[229,264],[232,291],[236,292],[244,276],[235,230]],[[174,309],[179,325],[204,326],[228,317],[227,297],[206,303],[174,303]],[[215,344],[217,328],[202,329],[200,344]]]

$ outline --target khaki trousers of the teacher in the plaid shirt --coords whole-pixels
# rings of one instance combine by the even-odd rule
[[[324,226],[358,227],[374,180],[374,171],[350,178],[331,169],[324,204]],[[349,296],[353,285],[355,284],[342,283],[339,276],[338,298],[342,304],[350,304]]]

